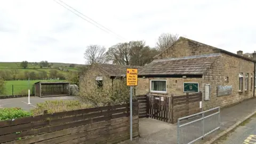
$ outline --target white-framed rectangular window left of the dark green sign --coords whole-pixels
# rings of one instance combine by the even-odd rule
[[[166,80],[150,80],[150,92],[165,93],[167,89]]]

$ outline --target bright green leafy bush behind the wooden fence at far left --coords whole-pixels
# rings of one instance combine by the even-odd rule
[[[21,108],[1,108],[0,109],[0,120],[15,119],[20,117],[31,116],[31,113],[24,111]]]

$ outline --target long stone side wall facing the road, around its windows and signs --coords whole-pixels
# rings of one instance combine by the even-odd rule
[[[251,76],[254,77],[254,63],[241,58],[233,57],[222,53],[221,57],[215,61],[205,75],[204,84],[211,84],[210,100],[204,101],[203,108],[210,109],[218,106],[228,106],[244,99],[253,97],[253,89],[251,89]],[[249,73],[249,90],[239,92],[239,73],[243,73],[243,87],[245,88],[245,73]],[[228,77],[228,81],[225,80]],[[254,81],[254,79],[252,79]],[[252,83],[253,84],[253,83]],[[232,93],[217,97],[217,86],[231,85]],[[204,89],[203,89],[204,92]],[[204,97],[204,93],[203,93]]]

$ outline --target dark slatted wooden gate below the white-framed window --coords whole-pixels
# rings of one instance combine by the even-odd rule
[[[164,122],[171,121],[171,97],[147,95],[148,117]]]

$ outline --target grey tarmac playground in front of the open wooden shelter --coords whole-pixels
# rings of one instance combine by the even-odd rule
[[[29,111],[36,107],[37,103],[41,103],[49,100],[75,100],[74,96],[62,96],[62,97],[30,97],[31,105],[28,105],[28,97],[23,98],[11,98],[11,99],[0,99],[0,108],[11,108],[19,107],[23,110]]]

